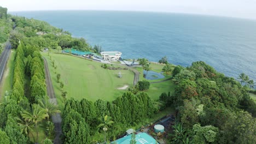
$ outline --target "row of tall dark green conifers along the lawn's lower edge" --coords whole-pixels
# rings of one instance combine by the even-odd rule
[[[114,140],[116,136],[124,134],[127,128],[145,122],[146,118],[158,110],[158,105],[146,93],[124,93],[112,103],[101,99],[95,103],[86,99],[68,100],[62,115],[64,143],[104,142],[104,136],[107,140]],[[107,123],[104,121],[106,116],[110,117],[109,121],[113,121],[113,124],[107,125],[107,130],[104,130],[99,125]],[[83,135],[80,135],[79,131],[83,131]],[[77,136],[78,134],[80,136]]]

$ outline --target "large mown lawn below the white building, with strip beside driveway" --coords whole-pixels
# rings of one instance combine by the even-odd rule
[[[52,67],[48,53],[42,52],[42,55],[48,61],[57,102],[63,107],[60,83],[57,83],[55,69]],[[103,69],[102,63],[57,53],[50,53],[50,56],[57,65],[57,73],[61,74],[61,81],[64,83],[64,91],[67,91],[68,99],[86,98],[91,101],[97,99],[112,101],[126,91],[118,88],[133,84],[134,74],[130,70],[121,70],[121,73],[125,74],[122,74],[123,77],[120,79],[119,70]]]

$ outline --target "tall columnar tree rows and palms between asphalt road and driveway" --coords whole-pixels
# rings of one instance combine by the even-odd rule
[[[43,143],[45,137],[51,140],[54,138],[54,124],[49,118],[59,111],[53,103],[49,103],[46,96],[44,65],[39,52],[41,47],[26,43],[32,36],[21,32],[26,29],[20,26],[21,20],[11,15],[1,20],[4,23],[4,27],[1,23],[0,30],[4,32],[0,33],[1,40],[6,41],[10,37],[16,52],[11,53],[10,61],[13,62],[7,65],[11,75],[7,76],[4,85],[8,86],[3,87],[11,91],[4,92],[3,103],[0,104],[0,143]],[[27,25],[34,25],[30,20],[25,21]],[[16,28],[11,30],[13,25]]]

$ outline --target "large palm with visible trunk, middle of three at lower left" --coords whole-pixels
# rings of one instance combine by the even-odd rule
[[[21,113],[21,116],[22,116],[22,118],[25,119],[25,121],[34,123],[34,127],[36,128],[36,131],[37,131],[37,140],[36,140],[36,142],[38,143],[37,124],[39,122],[43,121],[43,119],[45,119],[46,117],[49,117],[48,113],[46,112],[45,109],[42,109],[42,107],[40,107],[39,105],[33,104],[32,105],[32,110],[30,110],[30,111],[24,110]]]

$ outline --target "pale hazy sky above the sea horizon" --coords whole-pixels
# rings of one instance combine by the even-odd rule
[[[256,0],[0,0],[8,11],[128,10],[256,19]]]

